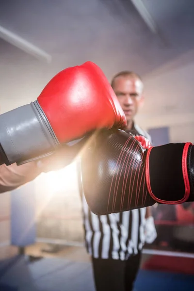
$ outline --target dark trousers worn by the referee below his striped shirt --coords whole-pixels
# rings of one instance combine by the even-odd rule
[[[92,258],[96,291],[132,291],[141,253],[128,260]]]

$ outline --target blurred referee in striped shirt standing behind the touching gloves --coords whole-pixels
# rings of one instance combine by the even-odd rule
[[[134,123],[134,116],[144,102],[140,76],[130,71],[120,72],[114,76],[112,87],[127,117],[126,130],[150,140],[147,132]],[[92,257],[96,290],[130,291],[139,269],[143,245],[156,238],[150,209],[96,215],[89,210],[83,195],[80,172],[78,177],[85,243]]]

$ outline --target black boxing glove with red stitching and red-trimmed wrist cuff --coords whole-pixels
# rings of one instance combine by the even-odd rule
[[[81,179],[94,213],[194,201],[194,146],[146,149],[141,144],[146,144],[143,136],[119,129],[103,130],[87,144],[81,156]]]

